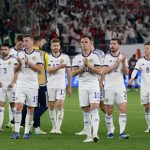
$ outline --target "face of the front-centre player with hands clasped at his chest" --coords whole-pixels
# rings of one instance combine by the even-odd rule
[[[92,44],[89,38],[82,38],[81,39],[81,48],[83,50],[91,50]]]

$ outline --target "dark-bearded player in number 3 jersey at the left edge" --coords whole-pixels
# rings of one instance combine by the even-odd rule
[[[3,131],[2,125],[4,120],[4,109],[6,100],[10,102],[12,117],[14,116],[14,69],[17,65],[17,60],[10,55],[8,44],[1,46],[2,58],[0,58],[0,131]]]

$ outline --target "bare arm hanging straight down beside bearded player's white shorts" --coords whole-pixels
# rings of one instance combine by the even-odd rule
[[[67,79],[68,79],[68,88],[67,88],[67,92],[68,92],[68,96],[71,96],[72,94],[72,73],[71,73],[71,68],[67,68]]]

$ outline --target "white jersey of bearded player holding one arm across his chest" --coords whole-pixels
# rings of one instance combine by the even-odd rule
[[[48,58],[48,66],[49,67],[57,67],[61,63],[66,64],[69,68],[71,67],[69,56],[63,53],[60,53],[58,57],[53,56],[53,54],[49,54]],[[59,69],[58,71],[48,74],[48,87],[50,88],[66,88],[66,78],[65,78],[65,68]]]

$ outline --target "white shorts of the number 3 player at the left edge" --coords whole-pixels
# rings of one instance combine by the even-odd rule
[[[9,88],[9,89],[0,88],[0,101],[6,103],[7,100],[9,103],[15,102],[14,88]]]

